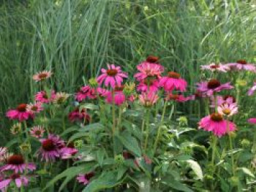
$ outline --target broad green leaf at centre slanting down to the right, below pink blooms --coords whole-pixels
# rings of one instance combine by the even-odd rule
[[[125,132],[122,135],[117,135],[117,137],[120,139],[124,147],[127,148],[127,150],[131,151],[137,156],[141,156],[141,150],[135,137],[132,137],[128,132]]]

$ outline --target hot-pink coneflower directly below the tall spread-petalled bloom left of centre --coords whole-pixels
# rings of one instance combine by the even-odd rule
[[[120,86],[120,87],[116,86],[113,93],[112,93],[112,91],[108,91],[108,93],[106,95],[106,102],[108,104],[112,104],[113,103],[113,95],[112,94],[114,94],[114,103],[118,106],[123,104],[125,101],[125,95],[124,95],[123,89],[124,89],[124,86]]]

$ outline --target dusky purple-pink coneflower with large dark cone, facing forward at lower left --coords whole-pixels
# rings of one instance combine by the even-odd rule
[[[56,161],[60,157],[60,150],[64,147],[64,141],[57,135],[50,134],[48,139],[40,139],[41,147],[38,155],[41,156],[41,161]]]

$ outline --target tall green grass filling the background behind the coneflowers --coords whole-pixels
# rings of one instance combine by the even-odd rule
[[[148,54],[180,72],[194,91],[201,64],[254,62],[255,1],[0,1],[0,140],[9,139],[10,107],[29,102],[31,74],[53,70],[57,91],[75,92],[106,63],[128,72]],[[132,77],[130,77],[132,78]],[[249,78],[252,78],[249,76]],[[251,107],[255,101],[244,101]],[[193,115],[198,104],[182,105]]]

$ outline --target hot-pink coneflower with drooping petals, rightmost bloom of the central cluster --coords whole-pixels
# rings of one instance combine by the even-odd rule
[[[162,77],[159,80],[159,86],[164,87],[165,91],[186,91],[187,82],[181,78],[181,75],[176,72],[168,72],[167,77]]]

